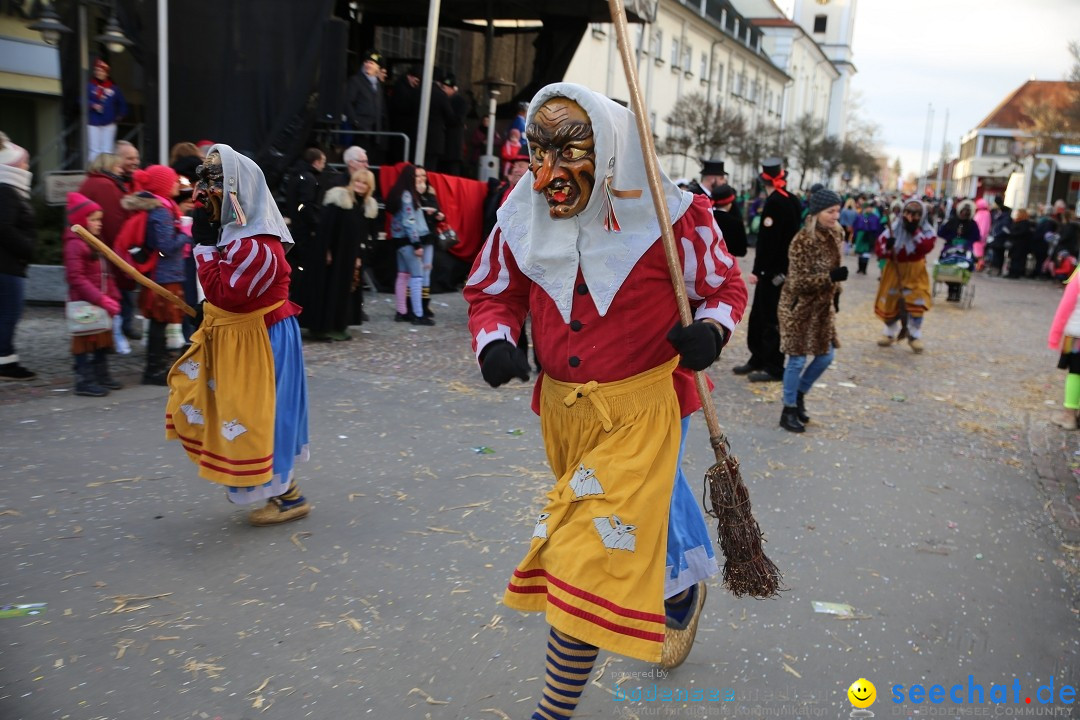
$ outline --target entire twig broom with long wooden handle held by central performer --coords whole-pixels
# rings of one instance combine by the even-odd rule
[[[616,37],[619,40],[619,53],[622,56],[622,67],[626,73],[626,85],[630,89],[631,109],[637,121],[637,134],[640,136],[645,169],[649,178],[649,191],[652,193],[652,204],[657,210],[657,218],[660,220],[660,233],[664,243],[664,255],[667,258],[667,270],[671,272],[672,285],[678,300],[679,320],[684,326],[687,326],[693,322],[693,317],[690,314],[690,302],[683,284],[678,250],[672,234],[671,215],[667,213],[667,204],[664,202],[663,189],[660,185],[660,167],[652,142],[652,128],[649,127],[649,116],[642,99],[637,68],[633,62],[623,0],[608,0],[608,8],[611,11]],[[756,598],[772,597],[780,589],[782,580],[780,570],[777,569],[772,560],[766,557],[761,547],[761,528],[751,512],[750,493],[746,491],[746,486],[739,472],[739,460],[730,452],[728,438],[716,416],[716,408],[708,392],[705,375],[694,372],[694,380],[698,395],[701,397],[702,410],[705,413],[705,422],[708,425],[708,439],[716,453],[716,464],[705,473],[705,488],[708,491],[708,503],[705,506],[705,512],[717,519],[717,539],[726,558],[724,584],[735,597],[743,595]]]

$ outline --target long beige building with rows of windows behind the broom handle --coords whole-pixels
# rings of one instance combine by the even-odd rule
[[[698,93],[725,109],[737,110],[755,130],[779,126],[787,74],[762,46],[762,32],[727,0],[660,0],[653,23],[631,26],[642,93],[653,132],[667,135],[665,117],[685,95]],[[594,24],[566,71],[576,82],[629,104],[626,81],[612,28]],[[733,182],[748,184],[756,168],[724,158]],[[663,157],[673,177],[697,177],[701,166],[690,158]]]

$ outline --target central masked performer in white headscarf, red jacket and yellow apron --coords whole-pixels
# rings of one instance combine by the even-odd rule
[[[531,164],[498,212],[465,287],[484,379],[528,380],[517,348],[532,318],[540,415],[555,484],[504,595],[551,625],[534,718],[569,718],[598,648],[680,664],[717,572],[679,470],[693,370],[708,367],[746,305],[705,196],[662,178],[694,322],[681,327],[634,118],[580,85],[534,98]]]

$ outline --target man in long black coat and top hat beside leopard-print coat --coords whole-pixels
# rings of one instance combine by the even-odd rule
[[[787,277],[787,247],[798,232],[801,204],[785,190],[787,174],[779,158],[761,162],[761,175],[768,196],[761,208],[761,227],[757,233],[757,250],[751,283],[754,303],[746,327],[750,359],[732,368],[735,375],[748,376],[753,382],[780,381],[784,377],[784,354],[780,352],[780,321],[777,307],[780,288]]]

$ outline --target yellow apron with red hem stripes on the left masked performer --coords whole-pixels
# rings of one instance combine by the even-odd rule
[[[191,347],[168,372],[165,438],[180,440],[199,475],[231,487],[273,477],[274,359],[264,316],[203,303]]]

